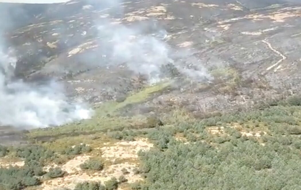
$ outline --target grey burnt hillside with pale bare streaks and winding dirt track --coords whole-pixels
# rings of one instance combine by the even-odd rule
[[[152,62],[171,85],[127,107],[127,115],[175,106],[196,116],[241,111],[300,92],[296,2],[74,0],[42,6],[38,15],[26,12],[31,24],[5,34],[18,56],[15,74],[28,82],[55,78],[71,97],[122,101],[152,82]],[[160,44],[144,55],[153,39]]]

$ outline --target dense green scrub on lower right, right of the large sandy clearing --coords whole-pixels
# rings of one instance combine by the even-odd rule
[[[151,131],[157,148],[140,153],[145,181],[132,189],[301,188],[297,100]],[[188,143],[178,141],[178,133]]]

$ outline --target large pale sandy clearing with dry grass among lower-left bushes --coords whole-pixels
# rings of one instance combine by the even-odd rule
[[[65,141],[60,139],[58,141]],[[74,142],[71,140],[71,142]],[[88,142],[88,141],[86,141]],[[60,166],[68,175],[63,178],[51,179],[45,181],[39,189],[51,190],[53,188],[74,188],[76,183],[84,181],[100,181],[102,183],[110,180],[112,177],[119,178],[125,176],[128,183],[134,183],[143,180],[141,176],[135,174],[135,168],[138,167],[138,151],[149,150],[153,147],[147,139],[137,139],[136,141],[115,141],[106,138],[105,140],[96,139],[89,144],[94,148],[92,152],[86,155],[80,155],[69,160]],[[98,146],[98,147],[96,147]],[[83,171],[80,165],[91,157],[105,160],[102,171]],[[57,165],[52,163],[44,167],[47,171]],[[127,171],[126,173],[124,171]],[[126,188],[126,187],[124,187]]]

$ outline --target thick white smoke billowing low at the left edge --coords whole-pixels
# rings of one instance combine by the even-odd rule
[[[16,61],[0,52],[0,125],[48,127],[91,116],[90,110],[69,102],[63,87],[54,81],[47,85],[31,85],[13,80]]]

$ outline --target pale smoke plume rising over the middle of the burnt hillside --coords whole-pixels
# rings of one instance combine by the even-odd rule
[[[103,4],[105,6],[102,8],[109,10],[104,11],[104,15],[110,15],[112,10],[124,13],[124,4],[120,0],[106,0]],[[125,25],[119,22],[124,18],[116,20],[107,17],[101,22],[95,21],[98,22],[101,46],[106,46],[106,51],[109,49],[112,54],[110,64],[125,63],[130,70],[147,75],[151,83],[162,79],[160,68],[167,64],[173,65],[181,74],[194,81],[212,79],[202,62],[193,56],[192,52],[169,46],[168,33],[158,27],[156,21]]]

